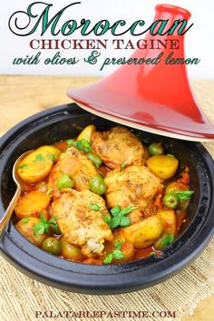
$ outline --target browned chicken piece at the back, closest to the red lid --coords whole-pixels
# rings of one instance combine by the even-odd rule
[[[117,126],[110,131],[95,131],[92,147],[110,169],[121,167],[122,164],[142,164],[144,149],[141,141],[126,128]]]

